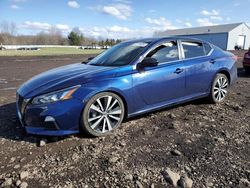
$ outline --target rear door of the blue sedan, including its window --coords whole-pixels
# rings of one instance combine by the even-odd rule
[[[187,96],[198,96],[209,91],[214,76],[214,63],[208,43],[182,40],[183,63],[186,67]]]

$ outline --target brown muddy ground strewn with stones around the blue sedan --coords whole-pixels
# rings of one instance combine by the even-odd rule
[[[173,187],[171,170],[190,178],[193,187],[249,186],[250,77],[242,58],[237,84],[223,104],[199,100],[149,113],[104,138],[25,134],[16,117],[17,87],[40,72],[83,59],[0,57],[0,185]]]

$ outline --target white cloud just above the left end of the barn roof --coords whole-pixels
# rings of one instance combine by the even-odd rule
[[[164,17],[158,19],[146,18],[145,21],[148,24],[158,27],[159,30],[177,29],[177,27],[173,26],[172,23]]]

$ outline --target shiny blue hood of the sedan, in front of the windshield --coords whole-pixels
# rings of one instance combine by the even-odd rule
[[[115,69],[117,68],[81,63],[66,65],[34,76],[18,89],[18,93],[25,98],[31,98],[74,85],[81,85],[100,77],[113,77]]]

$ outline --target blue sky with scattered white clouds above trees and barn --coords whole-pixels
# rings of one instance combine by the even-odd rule
[[[0,23],[16,34],[77,27],[87,37],[141,38],[168,29],[245,22],[250,0],[0,0]],[[1,28],[0,28],[1,30]]]

